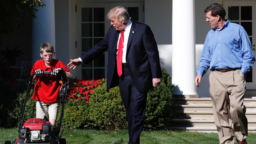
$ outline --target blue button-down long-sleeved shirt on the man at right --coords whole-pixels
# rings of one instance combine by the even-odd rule
[[[211,29],[205,39],[197,75],[214,69],[241,69],[248,73],[255,62],[252,44],[244,28],[226,21],[221,30]]]

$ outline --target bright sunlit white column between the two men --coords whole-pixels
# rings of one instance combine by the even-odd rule
[[[172,83],[174,94],[198,97],[195,86],[195,1],[173,0]]]

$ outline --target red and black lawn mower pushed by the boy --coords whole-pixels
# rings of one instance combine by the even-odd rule
[[[23,124],[24,113],[26,102],[29,96],[30,86],[32,84],[32,80],[35,74],[33,74],[28,83],[26,97],[23,105],[23,109],[21,112],[20,124],[19,124],[19,134],[18,139],[11,142],[10,140],[5,141],[4,144],[66,144],[66,140],[61,138],[63,130],[61,132],[61,126],[64,118],[64,106],[65,99],[68,90],[68,79],[63,75],[61,75],[62,79],[60,81],[60,91],[59,95],[62,99],[61,103],[61,114],[60,119],[56,121],[57,126],[53,127],[53,125],[49,122],[48,118],[45,116],[44,119],[41,118],[30,118]],[[44,72],[44,75],[51,75],[51,72]],[[61,133],[60,133],[61,132]]]

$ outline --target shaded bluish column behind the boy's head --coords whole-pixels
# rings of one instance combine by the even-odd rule
[[[55,16],[54,0],[42,1],[44,7],[38,7],[37,18],[32,21],[32,64],[42,59],[39,55],[40,46],[49,42],[55,51]]]

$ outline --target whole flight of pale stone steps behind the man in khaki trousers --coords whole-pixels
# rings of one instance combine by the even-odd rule
[[[170,120],[170,129],[197,132],[217,132],[214,124],[211,98],[175,97],[176,116]],[[248,132],[256,132],[256,99],[245,98]]]

